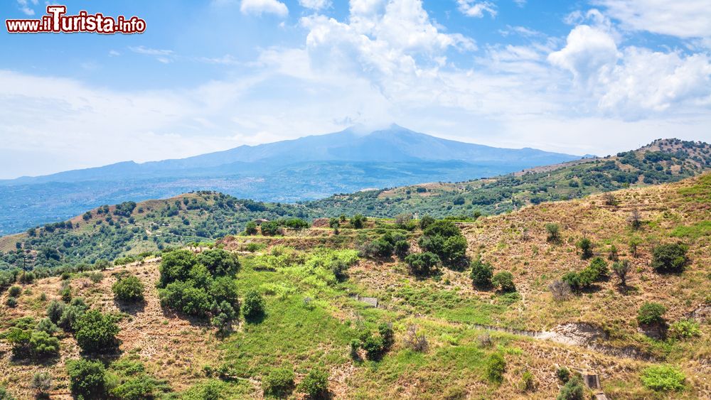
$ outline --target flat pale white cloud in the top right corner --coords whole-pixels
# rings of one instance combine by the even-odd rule
[[[708,0],[595,0],[625,28],[680,38],[711,38]]]

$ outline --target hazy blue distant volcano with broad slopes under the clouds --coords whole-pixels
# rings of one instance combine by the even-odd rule
[[[0,234],[66,220],[98,205],[191,190],[297,202],[363,188],[469,180],[579,158],[451,141],[397,125],[367,134],[346,129],[189,158],[0,180]]]

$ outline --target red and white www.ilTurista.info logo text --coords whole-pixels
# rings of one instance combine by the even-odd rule
[[[137,16],[104,16],[102,13],[79,14],[68,16],[67,6],[47,6],[47,15],[40,19],[6,19],[9,33],[144,33],[146,21]]]

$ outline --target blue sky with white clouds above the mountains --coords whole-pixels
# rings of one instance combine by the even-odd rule
[[[0,16],[46,4],[2,1]],[[0,178],[353,125],[599,156],[711,141],[708,0],[59,4],[146,31],[0,28]]]

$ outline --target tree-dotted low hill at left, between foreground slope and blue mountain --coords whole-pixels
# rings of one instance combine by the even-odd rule
[[[214,192],[166,200],[105,205],[66,222],[0,238],[0,269],[93,264],[120,256],[156,252],[190,242],[214,241],[255,219],[307,217],[300,205],[238,200]]]

